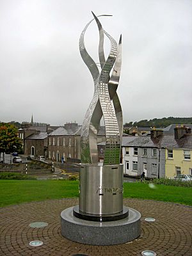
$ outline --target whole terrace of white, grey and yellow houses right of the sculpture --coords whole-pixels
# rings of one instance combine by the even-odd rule
[[[164,135],[152,130],[140,137],[125,137],[122,141],[124,174],[154,177],[175,177],[178,173],[191,174],[191,129],[175,127],[174,134]]]

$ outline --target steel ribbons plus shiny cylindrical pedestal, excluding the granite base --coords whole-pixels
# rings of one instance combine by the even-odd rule
[[[100,16],[109,15],[96,17],[93,12],[92,14],[94,19],[85,26],[79,40],[81,57],[93,77],[94,94],[81,129],[79,209],[74,209],[74,214],[81,215],[81,218],[92,214],[93,219],[103,221],[104,218],[111,219],[111,214],[117,214],[118,218],[123,218],[125,214],[123,166],[120,164],[122,108],[116,94],[121,70],[122,36],[117,45],[113,37],[102,28],[98,19]],[[93,20],[99,28],[100,72],[97,63],[92,60],[84,45],[84,33]],[[111,42],[107,59],[104,56],[104,36]],[[106,128],[106,146],[101,166],[98,163],[97,132],[102,116]]]

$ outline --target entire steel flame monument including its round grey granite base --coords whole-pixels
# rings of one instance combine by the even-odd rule
[[[120,164],[122,141],[122,108],[116,93],[120,79],[122,36],[119,43],[102,28],[94,13],[79,40],[84,63],[90,70],[93,99],[81,129],[81,168],[79,205],[61,212],[61,234],[83,244],[111,245],[131,241],[140,236],[140,212],[123,205],[123,164]],[[86,51],[84,33],[95,20],[99,28],[99,61]],[[111,42],[108,58],[104,56],[104,36]],[[106,146],[104,162],[98,163],[97,132],[104,117]]]

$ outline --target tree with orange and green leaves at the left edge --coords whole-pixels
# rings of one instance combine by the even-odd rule
[[[15,152],[22,149],[22,141],[17,136],[17,128],[11,124],[0,123],[0,152]]]

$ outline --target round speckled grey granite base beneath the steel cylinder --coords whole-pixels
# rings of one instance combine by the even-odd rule
[[[70,207],[61,212],[61,234],[67,239],[92,245],[122,244],[140,236],[140,212],[129,209],[129,216],[118,221],[88,221],[76,218]]]

